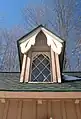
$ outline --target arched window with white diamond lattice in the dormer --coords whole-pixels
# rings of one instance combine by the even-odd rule
[[[51,82],[50,58],[46,54],[37,54],[32,60],[32,82]]]

